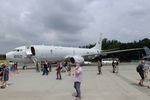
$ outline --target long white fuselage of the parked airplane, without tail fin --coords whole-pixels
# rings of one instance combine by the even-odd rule
[[[84,62],[84,57],[96,55],[99,49],[84,49],[73,47],[59,47],[46,45],[21,46],[6,54],[9,61],[31,63],[36,61],[57,62],[67,58],[75,62]]]

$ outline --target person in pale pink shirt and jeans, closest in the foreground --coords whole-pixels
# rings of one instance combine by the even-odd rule
[[[75,96],[76,99],[81,99],[81,81],[82,81],[82,67],[79,63],[76,63],[75,72],[74,72],[74,88],[76,90],[77,95]]]

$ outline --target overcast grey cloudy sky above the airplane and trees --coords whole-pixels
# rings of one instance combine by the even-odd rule
[[[31,44],[79,47],[150,38],[150,0],[0,0],[0,54]]]

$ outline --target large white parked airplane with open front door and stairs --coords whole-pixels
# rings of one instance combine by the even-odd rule
[[[17,63],[34,63],[38,69],[38,64],[41,61],[58,62],[69,60],[71,63],[83,64],[85,60],[92,60],[100,55],[109,53],[124,52],[129,50],[140,50],[141,48],[103,51],[102,38],[100,37],[96,45],[91,48],[75,48],[75,47],[60,47],[48,45],[30,45],[20,46],[6,53],[6,59]],[[143,48],[142,48],[143,49]]]

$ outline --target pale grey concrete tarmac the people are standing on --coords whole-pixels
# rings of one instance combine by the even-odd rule
[[[103,66],[101,75],[97,75],[97,66],[83,66],[81,100],[149,100],[150,89],[137,84],[136,66],[120,64],[119,73],[112,73],[112,66]],[[73,76],[62,73],[62,80],[56,80],[55,68],[48,76],[35,69],[19,70],[11,73],[8,83],[0,89],[0,100],[75,100]]]

